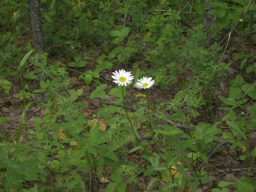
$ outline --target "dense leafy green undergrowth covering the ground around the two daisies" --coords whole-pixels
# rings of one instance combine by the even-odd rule
[[[234,58],[240,60],[240,71],[218,97],[218,110],[226,115],[215,121],[211,93],[219,91],[231,63],[219,62],[225,44],[204,48],[208,39],[200,2],[183,13],[186,1],[42,0],[47,53],[31,49],[27,39],[28,3],[1,2],[0,90],[3,97],[13,93],[24,106],[19,127],[3,130],[8,137],[0,134],[0,192],[124,192],[132,186],[133,191],[209,191],[204,184],[213,179],[206,166],[235,180],[215,183],[212,192],[227,192],[229,185],[236,192],[254,192],[256,148],[248,140],[255,132],[256,84],[242,76],[252,55],[245,54],[242,36]],[[212,36],[234,27],[248,4],[212,1],[210,14],[217,17],[217,26],[208,28]],[[245,14],[240,23],[241,34],[248,33],[249,18]],[[147,76],[156,82],[147,92],[134,82],[117,86],[107,77],[121,68],[131,71],[134,82]],[[254,72],[255,64],[246,70]],[[43,76],[47,80],[38,83]],[[85,94],[77,80],[93,91]],[[22,88],[14,93],[16,84]],[[148,98],[156,90],[172,92],[174,85],[179,90],[168,102]],[[41,93],[47,103],[37,100]],[[95,100],[102,107],[92,113],[89,103]],[[27,111],[36,104],[42,116],[34,116],[29,127]],[[193,123],[206,108],[214,121]],[[12,127],[10,117],[1,115],[3,124]],[[222,142],[236,149],[233,158],[246,166],[237,178],[208,161]],[[138,189],[141,178],[146,188]]]

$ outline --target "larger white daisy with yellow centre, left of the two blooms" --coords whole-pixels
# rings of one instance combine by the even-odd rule
[[[126,86],[127,84],[132,83],[132,79],[134,79],[134,76],[131,76],[130,71],[125,71],[124,69],[119,70],[119,72],[115,71],[113,72],[113,76],[111,76],[116,84],[121,86]]]

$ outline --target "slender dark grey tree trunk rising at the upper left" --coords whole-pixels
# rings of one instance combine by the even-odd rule
[[[34,47],[38,51],[45,53],[44,49],[44,34],[42,26],[42,17],[40,12],[40,2],[39,0],[29,0],[30,16],[31,16],[31,25],[33,33]],[[39,61],[43,64],[42,60]],[[40,77],[40,74],[37,76],[38,81],[44,81],[46,83],[46,76]],[[40,102],[47,103],[45,92],[40,93]]]

